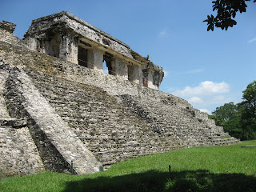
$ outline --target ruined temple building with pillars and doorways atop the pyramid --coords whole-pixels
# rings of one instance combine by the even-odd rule
[[[109,74],[155,90],[164,75],[162,67],[130,50],[124,42],[66,11],[35,19],[25,41],[31,50],[90,69],[103,71],[105,61]]]

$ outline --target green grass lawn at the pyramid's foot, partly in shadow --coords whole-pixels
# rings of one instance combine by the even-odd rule
[[[256,148],[241,146],[256,140],[154,154],[90,175],[2,178],[0,191],[256,191]]]

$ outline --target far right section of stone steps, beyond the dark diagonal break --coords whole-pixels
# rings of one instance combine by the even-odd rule
[[[143,119],[154,132],[163,137],[178,138],[184,146],[230,145],[238,142],[209,119],[196,118],[193,108],[180,107],[168,102],[168,98],[138,98],[127,94],[119,98],[127,110]]]

